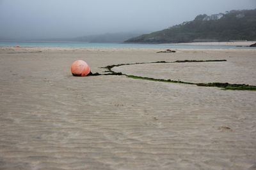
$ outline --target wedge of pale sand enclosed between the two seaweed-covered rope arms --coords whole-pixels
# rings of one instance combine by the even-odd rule
[[[252,60],[254,57],[251,57]],[[172,79],[191,83],[239,83],[256,85],[256,67],[253,62],[236,64],[227,62],[175,62],[134,64],[112,69],[127,75]],[[250,76],[249,76],[250,75]]]

